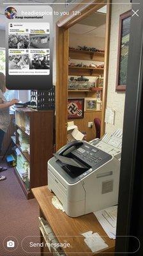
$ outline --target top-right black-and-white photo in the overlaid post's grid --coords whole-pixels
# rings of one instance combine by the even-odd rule
[[[49,48],[49,34],[30,34],[29,35],[29,48],[30,49],[48,49]]]

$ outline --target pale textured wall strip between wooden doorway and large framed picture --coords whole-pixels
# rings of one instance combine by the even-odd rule
[[[117,1],[113,0],[112,3],[117,3]],[[120,3],[124,3],[124,0],[120,0]],[[126,1],[126,3],[130,3],[130,0]],[[114,125],[106,124],[105,126],[105,131],[109,133],[115,131],[117,128],[123,128],[125,92],[116,92],[117,47],[119,15],[130,9],[131,4],[112,4],[107,108],[114,109],[116,111],[116,115]]]

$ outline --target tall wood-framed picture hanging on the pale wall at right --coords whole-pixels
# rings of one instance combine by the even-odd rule
[[[131,15],[130,10],[121,14],[119,18],[116,92],[124,92],[126,90]]]

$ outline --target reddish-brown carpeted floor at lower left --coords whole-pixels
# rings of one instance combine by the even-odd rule
[[[26,200],[13,168],[0,175],[7,177],[0,181],[0,255],[40,256],[39,247],[29,248],[29,241],[40,242],[38,204],[35,199]],[[14,241],[15,246],[7,247],[8,241]]]

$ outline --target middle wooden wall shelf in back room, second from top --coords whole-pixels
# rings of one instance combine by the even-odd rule
[[[69,76],[100,76],[104,68],[68,66]]]

